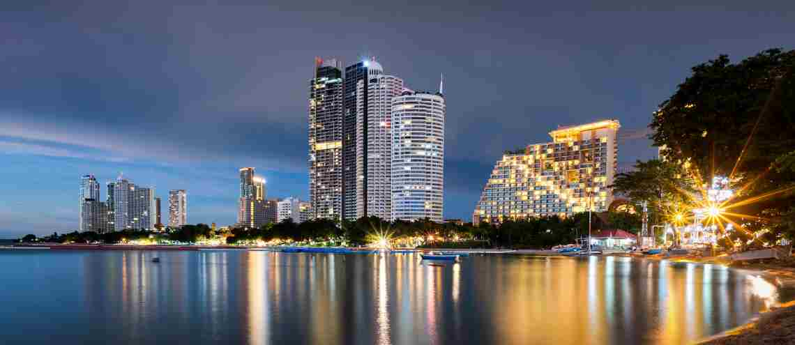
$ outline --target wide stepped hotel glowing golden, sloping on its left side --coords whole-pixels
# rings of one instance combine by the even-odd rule
[[[494,165],[472,222],[607,211],[618,165],[618,120],[563,126],[552,142],[509,152]]]

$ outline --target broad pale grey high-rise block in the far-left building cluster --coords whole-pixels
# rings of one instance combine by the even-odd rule
[[[115,231],[154,229],[154,188],[136,186],[119,176],[107,184],[107,204],[113,209]]]

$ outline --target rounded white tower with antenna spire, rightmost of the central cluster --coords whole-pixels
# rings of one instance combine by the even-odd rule
[[[442,221],[444,116],[441,85],[392,100],[392,219]]]

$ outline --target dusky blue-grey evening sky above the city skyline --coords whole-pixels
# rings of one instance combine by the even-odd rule
[[[620,163],[656,157],[646,126],[692,66],[795,48],[787,0],[199,3],[3,3],[0,238],[76,230],[88,173],[186,189],[188,223],[235,223],[243,166],[306,200],[315,56],[444,73],[444,217],[471,219],[502,151],[618,118]]]

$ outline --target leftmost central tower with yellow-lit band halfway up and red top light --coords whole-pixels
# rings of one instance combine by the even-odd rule
[[[315,217],[343,211],[343,76],[337,60],[316,60],[309,85],[309,200]]]

